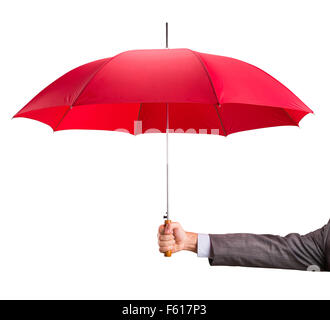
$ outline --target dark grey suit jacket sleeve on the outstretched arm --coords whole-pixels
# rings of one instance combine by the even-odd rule
[[[330,222],[330,221],[329,221]],[[306,235],[210,234],[210,265],[326,270],[329,223]]]

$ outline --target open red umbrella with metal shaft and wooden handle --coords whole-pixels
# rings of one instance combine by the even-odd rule
[[[54,131],[227,136],[298,126],[311,112],[289,89],[251,64],[189,49],[158,49],[126,51],[80,66],[46,87],[14,117],[41,121]],[[165,218],[169,223],[168,180]]]

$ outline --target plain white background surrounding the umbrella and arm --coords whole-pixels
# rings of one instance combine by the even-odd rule
[[[0,298],[330,298],[329,274],[165,259],[165,136],[11,120],[68,70],[165,46],[264,69],[315,115],[301,128],[170,136],[172,219],[188,231],[307,233],[330,218],[328,1],[0,5]]]

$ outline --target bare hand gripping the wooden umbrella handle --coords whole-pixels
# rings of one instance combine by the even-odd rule
[[[184,231],[178,222],[171,222],[159,227],[158,245],[162,253],[175,253],[181,250],[197,252],[197,234]]]

